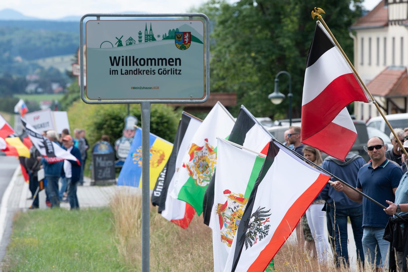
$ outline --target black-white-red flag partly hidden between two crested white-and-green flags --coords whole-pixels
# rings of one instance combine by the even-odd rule
[[[228,137],[228,141],[266,155],[271,138],[271,134],[259,124],[257,119],[244,106],[241,106],[237,120],[235,121],[231,134]],[[203,200],[204,224],[210,228],[212,226],[210,220],[214,204],[214,184],[216,176],[217,171],[215,171],[210,184],[208,184]]]

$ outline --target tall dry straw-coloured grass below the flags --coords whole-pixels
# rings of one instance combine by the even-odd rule
[[[142,198],[129,192],[118,192],[111,201],[118,251],[129,271],[140,271]],[[290,272],[371,272],[366,267],[336,268],[335,263],[319,264],[309,254],[297,251],[297,246],[286,243],[274,259],[275,271]],[[202,217],[195,215],[184,230],[150,209],[150,270],[151,271],[213,271],[212,233]]]

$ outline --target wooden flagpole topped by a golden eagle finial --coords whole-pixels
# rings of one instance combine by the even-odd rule
[[[404,154],[406,155],[406,157],[408,158],[408,153],[405,150],[403,144],[401,143],[401,141],[399,140],[399,138],[397,137],[397,134],[395,134],[395,131],[392,129],[391,124],[388,122],[387,118],[385,117],[384,113],[381,111],[381,108],[378,106],[377,102],[375,102],[375,99],[373,97],[373,95],[371,95],[370,91],[368,91],[368,88],[366,86],[366,84],[364,84],[363,80],[361,80],[361,77],[359,76],[359,74],[357,73],[356,69],[354,68],[353,64],[350,62],[350,60],[348,59],[346,53],[344,53],[343,49],[341,49],[340,44],[337,42],[336,38],[334,37],[333,33],[330,31],[329,27],[327,26],[326,22],[324,22],[322,15],[320,15],[320,13],[324,13],[324,10],[321,8],[316,8],[312,11],[312,18],[315,19],[315,17],[317,16],[317,19],[319,19],[320,22],[322,22],[324,28],[327,30],[327,32],[329,33],[330,37],[333,39],[334,43],[336,44],[336,46],[339,48],[341,54],[343,54],[344,58],[346,59],[346,61],[348,62],[348,65],[350,65],[351,69],[353,69],[353,72],[355,73],[355,75],[357,76],[357,79],[359,80],[359,82],[361,83],[361,85],[364,87],[364,90],[366,91],[366,93],[370,96],[370,99],[373,104],[375,105],[375,107],[377,108],[377,110],[379,111],[381,117],[383,117],[384,121],[386,122],[387,126],[390,128],[392,135],[394,135],[395,140],[398,142],[399,146],[401,146],[402,151],[404,152]],[[317,22],[319,24],[319,21]]]

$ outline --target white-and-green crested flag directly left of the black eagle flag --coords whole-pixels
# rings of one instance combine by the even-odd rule
[[[264,156],[218,138],[210,224],[215,272],[224,271],[235,232],[264,164]]]

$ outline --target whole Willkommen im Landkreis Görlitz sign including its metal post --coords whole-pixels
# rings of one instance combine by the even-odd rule
[[[85,93],[86,17],[96,20],[86,22]],[[100,20],[101,17],[137,20]],[[194,19],[197,17],[199,20]],[[88,104],[137,103],[142,108],[142,272],[150,269],[151,103],[202,103],[208,99],[209,25],[208,17],[202,13],[86,14],[80,20],[82,100]]]

